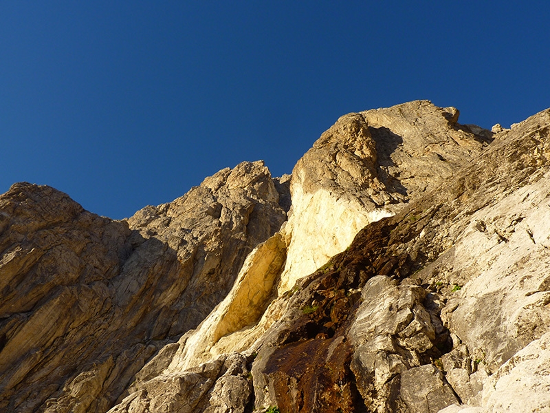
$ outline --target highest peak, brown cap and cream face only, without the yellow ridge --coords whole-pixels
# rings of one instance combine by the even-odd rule
[[[298,160],[279,292],[343,251],[366,224],[435,188],[490,142],[427,100],[348,114]]]

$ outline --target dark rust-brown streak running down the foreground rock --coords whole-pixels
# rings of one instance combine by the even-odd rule
[[[347,332],[360,302],[358,288],[376,274],[408,274],[407,255],[384,258],[394,226],[387,219],[371,224],[348,251],[305,279],[305,289],[293,297],[303,302],[288,315],[292,321],[278,332],[263,370],[281,412],[366,410],[350,370],[353,346]]]

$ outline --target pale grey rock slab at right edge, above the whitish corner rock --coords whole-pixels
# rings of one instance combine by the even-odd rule
[[[498,206],[476,211],[455,242],[454,256],[445,260],[452,267],[441,279],[462,288],[448,301],[443,319],[489,370],[550,326],[544,287],[550,273],[549,182],[546,173]]]

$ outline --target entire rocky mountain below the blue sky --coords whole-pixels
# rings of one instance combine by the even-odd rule
[[[550,109],[338,119],[113,221],[0,195],[0,411],[544,412]]]

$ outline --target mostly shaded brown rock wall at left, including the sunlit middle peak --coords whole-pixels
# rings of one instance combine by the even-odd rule
[[[15,184],[0,198],[0,410],[107,411],[225,297],[285,220],[278,198],[263,162],[127,222]]]

